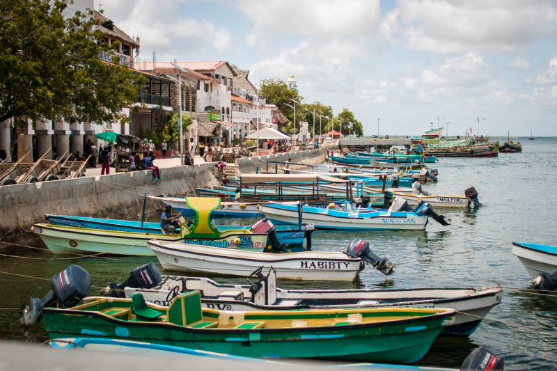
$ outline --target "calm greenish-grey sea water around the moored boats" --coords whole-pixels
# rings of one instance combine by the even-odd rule
[[[557,246],[557,140],[522,140],[524,152],[499,154],[487,159],[439,159],[439,182],[427,185],[432,194],[463,194],[476,187],[485,207],[469,210],[437,209],[452,219],[443,227],[431,221],[420,232],[315,232],[313,251],[343,251],[354,237],[368,239],[372,250],[391,262],[411,262],[395,268],[391,281],[383,281],[371,270],[363,271],[357,283],[292,283],[280,287],[489,287],[498,281],[503,287],[528,288],[531,278],[511,253],[512,241]],[[130,210],[130,214],[136,210]],[[158,215],[152,216],[153,221]],[[222,223],[223,221],[219,221]],[[235,221],[253,223],[253,221]],[[436,258],[491,246],[470,253]],[[74,263],[84,267],[93,285],[123,281],[136,265],[149,258],[70,258],[46,251],[26,251],[24,258],[0,257],[0,271],[49,278]],[[217,278],[219,282],[244,283],[244,278]],[[49,281],[0,274],[0,338],[22,342],[47,340],[41,324],[26,330],[19,324],[19,306],[29,297],[43,297]],[[92,289],[90,294],[97,294]],[[557,294],[556,294],[557,295]],[[472,349],[483,345],[505,358],[506,370],[550,370],[557,368],[557,298],[507,290],[503,301],[487,315],[506,323],[484,320],[469,338],[439,338],[418,365],[459,368]],[[521,327],[515,326],[519,324]]]

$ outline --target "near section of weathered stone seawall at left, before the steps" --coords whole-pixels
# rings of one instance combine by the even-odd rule
[[[196,187],[218,184],[213,168],[210,163],[164,168],[164,180],[157,182],[148,170],[0,187],[0,241],[42,244],[33,239],[31,226],[45,214],[138,220],[143,204],[138,195],[194,196]],[[152,213],[162,203],[148,201],[147,207]]]

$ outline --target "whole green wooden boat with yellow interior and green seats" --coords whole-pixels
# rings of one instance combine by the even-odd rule
[[[454,310],[439,308],[214,310],[201,308],[198,291],[178,295],[168,307],[146,303],[141,294],[86,301],[42,310],[51,339],[125,339],[253,358],[411,363],[455,319]]]

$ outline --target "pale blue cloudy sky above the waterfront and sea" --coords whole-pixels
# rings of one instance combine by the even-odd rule
[[[95,3],[95,8],[99,3]],[[305,102],[351,109],[366,134],[557,136],[557,2],[106,0],[142,59],[294,74]],[[474,124],[475,123],[475,124]]]

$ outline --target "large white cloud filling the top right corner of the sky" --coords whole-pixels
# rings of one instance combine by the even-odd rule
[[[542,0],[399,0],[396,10],[408,47],[449,53],[512,51],[538,38],[556,37],[556,6]]]

